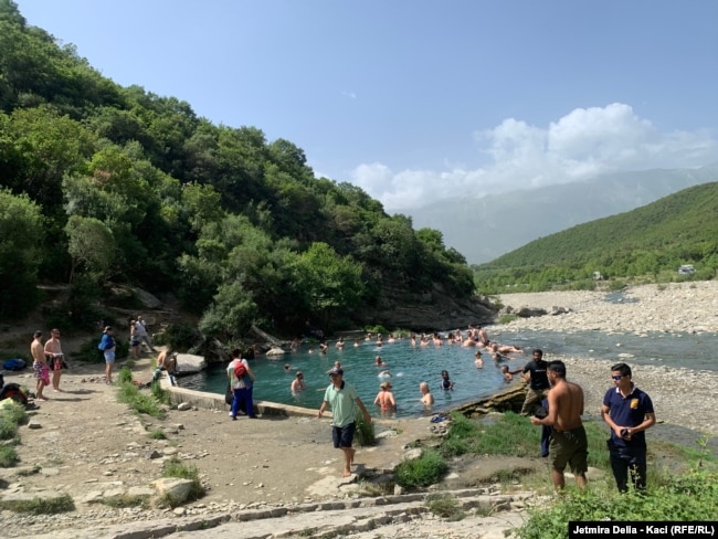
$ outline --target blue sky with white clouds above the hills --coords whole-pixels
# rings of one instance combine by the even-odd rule
[[[718,162],[715,0],[15,0],[103,75],[390,213]]]

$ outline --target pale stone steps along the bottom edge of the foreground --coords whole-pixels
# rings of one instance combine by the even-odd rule
[[[435,494],[435,493],[434,493]],[[474,538],[505,537],[520,526],[531,493],[492,494],[486,488],[446,490],[466,512],[462,520],[441,519],[429,510],[430,494],[356,498],[295,506],[263,506],[236,512],[167,518],[84,530],[57,530],[38,539],[278,539],[328,537]],[[378,536],[378,531],[382,536]],[[390,535],[384,535],[384,530]]]

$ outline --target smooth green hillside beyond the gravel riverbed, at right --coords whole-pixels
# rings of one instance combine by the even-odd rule
[[[682,264],[695,265],[695,278],[716,275],[718,182],[536,240],[474,271],[479,289],[493,294],[514,285],[531,290],[567,282],[592,286],[593,272],[674,279]]]

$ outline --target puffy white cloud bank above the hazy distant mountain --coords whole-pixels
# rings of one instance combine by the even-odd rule
[[[584,180],[600,173],[656,168],[695,168],[718,161],[718,140],[708,131],[661,133],[629,105],[577,108],[541,128],[515,118],[477,131],[492,163],[475,170],[392,171],[360,165],[352,182],[390,212],[420,208],[461,194],[482,195]]]

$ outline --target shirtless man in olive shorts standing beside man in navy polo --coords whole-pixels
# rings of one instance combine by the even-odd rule
[[[548,363],[547,376],[549,390],[549,410],[546,418],[531,418],[535,425],[553,427],[549,445],[551,461],[551,480],[557,490],[566,487],[563,471],[570,464],[576,476],[576,484],[585,489],[585,472],[588,471],[588,447],[585,430],[581,415],[583,414],[583,390],[580,385],[566,380],[563,361]]]

